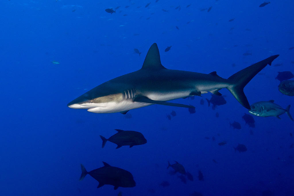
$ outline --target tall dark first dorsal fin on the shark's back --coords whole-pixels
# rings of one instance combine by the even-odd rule
[[[142,69],[166,69],[161,65],[159,50],[156,43],[149,48]]]

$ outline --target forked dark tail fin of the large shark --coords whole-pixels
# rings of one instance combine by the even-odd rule
[[[227,89],[233,94],[233,96],[243,105],[245,108],[250,110],[250,105],[248,100],[243,92],[243,88],[246,84],[265,66],[268,64],[271,65],[273,60],[277,58],[279,55],[270,56],[263,61],[255,63],[241,71],[238,71],[234,75],[230,76],[228,80],[233,83],[233,86],[227,87]]]

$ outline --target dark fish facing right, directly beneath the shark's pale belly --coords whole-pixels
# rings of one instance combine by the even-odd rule
[[[133,147],[135,145],[146,144],[147,140],[144,138],[143,134],[137,131],[124,131],[120,129],[115,129],[118,133],[112,135],[110,138],[106,139],[100,135],[102,139],[102,148],[105,146],[107,141],[117,144],[117,148],[121,148],[122,146],[130,146]]]

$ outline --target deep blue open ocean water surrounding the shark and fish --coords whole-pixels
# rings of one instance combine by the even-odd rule
[[[294,72],[294,49],[289,49],[294,46],[294,3],[271,1],[259,7],[262,3],[2,0],[1,195],[294,195],[293,121],[286,114],[281,120],[253,116],[255,128],[250,128],[242,119],[248,110],[226,89],[220,93],[227,103],[215,110],[205,100],[211,93],[173,101],[194,105],[193,114],[163,105],[130,110],[127,116],[66,106],[91,88],[140,69],[153,43],[166,68],[217,71],[223,78],[280,54],[244,92],[250,104],[294,105],[293,97],[278,91],[275,79],[278,71]],[[105,11],[118,6],[116,13]],[[169,120],[173,110],[176,116]],[[230,126],[234,121],[240,130]],[[107,142],[101,148],[99,135],[109,138],[114,129],[141,132],[147,143],[115,149]],[[238,144],[248,150],[236,152]],[[90,171],[102,167],[102,161],[131,172],[136,187],[97,189],[90,175],[78,181],[81,163]],[[170,175],[168,161],[181,163],[194,180],[185,184],[179,174]],[[198,180],[199,170],[204,180]],[[170,185],[161,186],[163,181]]]

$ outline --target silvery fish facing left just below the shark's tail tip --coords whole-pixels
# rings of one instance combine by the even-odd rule
[[[293,120],[292,116],[290,115],[290,106],[291,105],[288,105],[286,109],[283,109],[280,105],[275,104],[274,100],[259,101],[253,103],[250,106],[251,110],[248,110],[248,112],[255,116],[275,116],[279,119],[281,114],[286,113],[289,116],[289,118]]]

